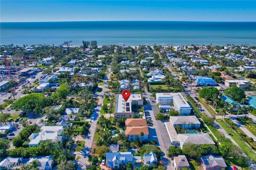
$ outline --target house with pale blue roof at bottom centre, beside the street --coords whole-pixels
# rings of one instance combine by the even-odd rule
[[[107,152],[106,163],[108,168],[118,169],[120,164],[127,164],[131,162],[135,164],[135,158],[131,152]]]

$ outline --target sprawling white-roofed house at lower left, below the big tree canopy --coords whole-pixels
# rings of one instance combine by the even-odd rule
[[[65,138],[64,128],[62,126],[42,126],[39,133],[32,133],[28,138],[30,142],[28,145],[38,146],[42,140],[51,140],[53,143],[58,140],[63,140]]]

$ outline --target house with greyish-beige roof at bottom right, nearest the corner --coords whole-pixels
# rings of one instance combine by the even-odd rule
[[[202,156],[201,164],[204,170],[208,170],[208,169],[222,170],[222,168],[226,169],[227,167],[224,159],[221,156],[215,156],[212,154],[207,156]]]

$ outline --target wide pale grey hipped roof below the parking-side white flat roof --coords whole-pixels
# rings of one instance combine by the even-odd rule
[[[180,138],[180,148],[182,149],[185,143],[193,143],[193,144],[212,144],[215,142],[212,140],[211,136],[208,133],[198,133],[198,134],[178,134]]]

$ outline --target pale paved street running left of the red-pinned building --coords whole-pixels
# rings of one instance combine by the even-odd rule
[[[88,136],[85,139],[84,149],[79,154],[81,156],[81,158],[80,158],[80,160],[78,160],[78,170],[82,170],[82,169],[87,168],[88,156],[89,156],[90,150],[92,148],[92,142],[93,142],[94,133],[95,133],[95,130],[96,130],[96,123],[98,121],[98,118],[100,117],[101,105],[103,104],[102,96],[107,91],[107,86],[105,85],[105,83],[110,79],[110,74],[111,74],[110,71],[111,71],[111,68],[108,69],[107,78],[104,79],[104,86],[102,88],[102,91],[100,93],[95,94],[95,97],[98,97],[99,101],[98,101],[97,107],[94,109],[96,111],[96,113],[94,113],[90,118],[91,127],[90,127],[90,130],[89,130]]]

